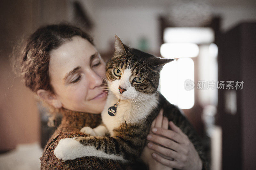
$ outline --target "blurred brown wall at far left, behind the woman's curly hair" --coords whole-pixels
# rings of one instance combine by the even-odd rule
[[[33,93],[11,70],[8,56],[20,38],[38,26],[67,19],[66,1],[1,1],[0,152],[19,143],[39,142],[40,120]]]

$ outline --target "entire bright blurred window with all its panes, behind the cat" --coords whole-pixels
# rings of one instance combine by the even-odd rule
[[[160,92],[170,103],[181,109],[192,108],[195,104],[194,89],[197,88],[197,82],[194,79],[192,57],[198,57],[196,65],[199,80],[217,80],[218,48],[211,44],[213,41],[214,31],[208,27],[164,29],[165,43],[161,45],[161,55],[177,58],[176,61],[167,63],[161,71]],[[217,101],[217,90],[200,90],[197,93],[203,106]]]

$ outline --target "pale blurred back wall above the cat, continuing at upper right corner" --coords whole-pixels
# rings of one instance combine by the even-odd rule
[[[158,16],[165,15],[170,6],[170,0],[80,0],[88,15],[94,20],[95,30],[92,35],[96,47],[101,52],[111,47],[111,41],[117,34],[124,43],[137,48],[140,37],[149,41],[150,51],[159,53],[160,35]],[[220,15],[221,30],[226,31],[243,20],[256,20],[256,4],[251,0],[220,1],[210,0],[214,15]],[[251,6],[249,6],[251,5]]]

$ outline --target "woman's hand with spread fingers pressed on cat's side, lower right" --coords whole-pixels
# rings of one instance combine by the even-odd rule
[[[158,116],[157,120],[159,119]],[[168,122],[167,120],[166,123],[164,119],[162,127],[159,127],[158,124],[152,128],[151,131],[154,134],[148,134],[147,137],[151,141],[148,143],[148,147],[156,151],[156,153],[152,154],[152,157],[168,167],[184,170],[201,170],[202,160],[188,136],[172,121]],[[160,121],[157,122],[159,123]],[[168,130],[168,124],[171,130]],[[170,160],[171,158],[174,160]]]

